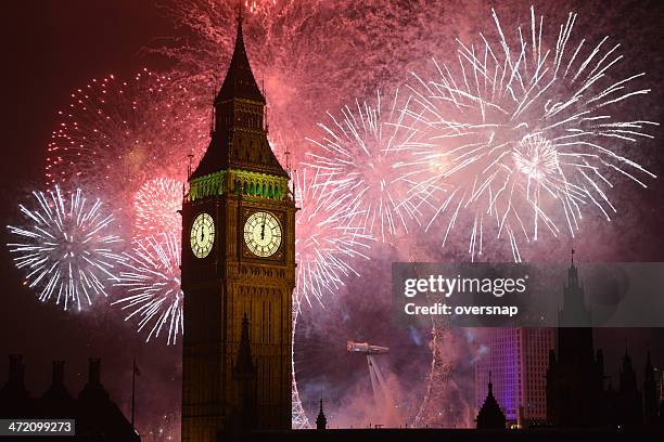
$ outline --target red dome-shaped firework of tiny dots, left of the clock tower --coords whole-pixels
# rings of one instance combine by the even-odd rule
[[[113,75],[90,81],[59,117],[48,145],[49,183],[135,193],[155,171],[183,181],[188,150],[197,161],[208,141],[207,106],[148,69],[127,81]]]

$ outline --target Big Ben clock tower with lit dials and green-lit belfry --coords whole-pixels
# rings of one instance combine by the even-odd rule
[[[182,441],[291,428],[295,204],[242,38],[182,207]]]

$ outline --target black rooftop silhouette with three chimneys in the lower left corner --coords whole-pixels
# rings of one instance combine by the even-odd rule
[[[75,419],[76,435],[48,440],[131,442],[141,438],[101,384],[101,361],[91,358],[88,382],[78,394],[69,394],[64,380],[64,361],[53,361],[53,378],[47,391],[33,398],[25,388],[23,359],[10,355],[9,379],[0,389],[0,416],[23,419]],[[43,440],[24,437],[22,441]]]

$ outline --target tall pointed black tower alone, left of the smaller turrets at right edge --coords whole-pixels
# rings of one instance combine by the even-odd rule
[[[558,352],[549,352],[547,416],[558,427],[597,427],[603,422],[604,359],[593,352],[590,311],[574,259],[563,287]]]

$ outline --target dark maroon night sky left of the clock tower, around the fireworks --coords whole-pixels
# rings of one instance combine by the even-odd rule
[[[159,61],[142,56],[155,37],[173,34],[151,2],[28,1],[3,3],[2,42],[9,61],[2,70],[4,100],[1,184],[3,224],[15,219],[18,198],[40,185],[44,146],[55,109],[71,91],[107,73],[128,75]],[[10,104],[11,103],[11,104]],[[2,243],[7,243],[2,230]],[[28,390],[41,394],[51,381],[51,361],[65,360],[65,381],[78,394],[88,376],[88,358],[102,359],[102,381],[129,415],[131,361],[142,372],[137,393],[137,422],[151,429],[170,415],[180,400],[181,348],[145,346],[120,316],[65,313],[38,302],[17,284],[21,273],[1,251],[3,291],[0,379],[7,378],[9,353],[23,353]],[[149,410],[149,411],[148,411]],[[179,424],[178,424],[179,427]]]

